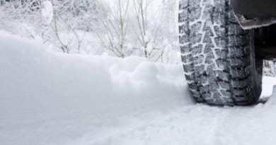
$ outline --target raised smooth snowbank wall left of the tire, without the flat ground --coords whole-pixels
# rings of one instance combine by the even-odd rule
[[[65,55],[3,32],[0,44],[4,112],[115,102],[146,105],[152,99],[173,100],[167,103],[173,105],[187,96],[179,65],[153,64],[139,57]]]

